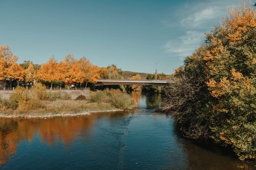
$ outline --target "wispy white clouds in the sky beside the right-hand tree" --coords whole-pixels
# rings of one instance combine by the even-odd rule
[[[202,44],[204,33],[220,25],[222,17],[228,14],[227,6],[234,3],[237,5],[239,2],[240,0],[190,1],[176,8],[172,11],[176,22],[164,20],[162,24],[174,32],[178,29],[181,35],[172,35],[171,40],[164,45],[165,52],[180,58],[191,55]]]

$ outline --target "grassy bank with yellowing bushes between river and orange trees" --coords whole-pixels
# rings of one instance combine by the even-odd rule
[[[45,86],[36,84],[31,89],[17,87],[9,100],[0,99],[1,115],[57,115],[95,111],[130,109],[135,100],[120,90],[106,89],[92,92],[90,98],[80,95],[71,100],[67,93],[46,92]]]

